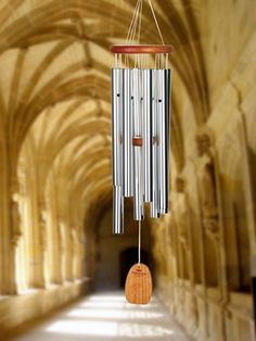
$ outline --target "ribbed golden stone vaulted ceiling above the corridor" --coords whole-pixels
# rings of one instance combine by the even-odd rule
[[[216,7],[201,0],[153,3],[165,42],[175,47],[171,160],[172,169],[180,171],[184,131],[207,121],[209,88],[219,79],[208,76],[216,73],[207,64],[209,50],[219,47],[215,36],[209,39],[210,23],[206,25],[206,14]],[[42,192],[54,173],[76,200],[111,198],[108,48],[126,38],[135,4],[136,0],[0,0],[0,119],[14,168],[24,150],[41,165]],[[158,42],[148,1],[142,27],[143,42]]]

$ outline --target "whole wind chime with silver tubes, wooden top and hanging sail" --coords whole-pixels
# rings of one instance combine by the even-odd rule
[[[164,43],[151,0],[148,0],[162,45],[141,45],[143,0],[138,0],[126,45],[111,47],[113,141],[113,232],[124,232],[124,200],[133,198],[133,219],[139,222],[138,264],[126,280],[126,298],[146,304],[152,276],[141,263],[141,222],[145,203],[151,217],[168,212],[170,68],[172,47]],[[151,29],[148,29],[151,31]]]

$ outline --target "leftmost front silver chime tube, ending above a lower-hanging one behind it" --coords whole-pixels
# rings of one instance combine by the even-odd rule
[[[112,70],[112,160],[113,185],[121,186],[123,70]]]

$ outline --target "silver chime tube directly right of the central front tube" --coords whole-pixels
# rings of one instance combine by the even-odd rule
[[[143,189],[144,202],[152,201],[152,70],[142,73],[142,113],[143,113]]]

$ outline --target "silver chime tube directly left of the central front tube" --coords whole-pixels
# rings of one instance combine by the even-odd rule
[[[133,195],[133,156],[132,156],[132,105],[131,70],[124,70],[124,116],[123,116],[123,191],[124,197]]]

